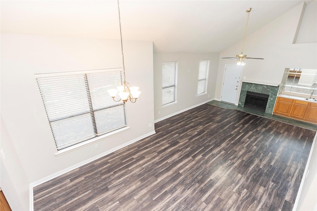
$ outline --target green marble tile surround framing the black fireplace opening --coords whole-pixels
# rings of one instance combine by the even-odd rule
[[[238,106],[240,107],[244,106],[244,101],[246,99],[247,91],[268,94],[268,100],[266,104],[265,113],[272,114],[276,96],[278,93],[278,88],[279,88],[278,85],[275,86],[275,85],[268,85],[268,84],[255,84],[250,82],[242,82]]]

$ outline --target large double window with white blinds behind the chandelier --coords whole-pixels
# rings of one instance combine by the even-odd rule
[[[121,84],[121,69],[36,76],[57,150],[126,127],[125,107],[107,90]]]

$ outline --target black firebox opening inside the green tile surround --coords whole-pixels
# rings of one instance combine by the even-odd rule
[[[247,91],[244,107],[265,112],[268,94]]]

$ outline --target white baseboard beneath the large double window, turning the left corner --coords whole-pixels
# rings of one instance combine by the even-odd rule
[[[104,157],[104,156],[106,156],[106,155],[108,155],[108,154],[110,154],[110,153],[112,153],[112,152],[114,152],[114,151],[117,151],[117,150],[119,150],[119,149],[121,149],[121,148],[123,148],[123,147],[126,147],[126,146],[128,146],[128,145],[130,145],[130,144],[133,144],[133,143],[135,143],[135,142],[137,142],[137,141],[139,141],[139,140],[141,140],[141,139],[143,139],[143,138],[146,138],[146,137],[149,137],[149,136],[151,136],[151,135],[153,135],[153,134],[155,134],[156,132],[155,132],[155,130],[153,130],[153,131],[151,131],[151,132],[149,132],[149,133],[147,133],[147,134],[144,134],[144,135],[142,135],[142,136],[140,136],[140,137],[137,137],[137,138],[135,138],[135,139],[133,139],[133,140],[131,140],[131,141],[129,141],[129,142],[126,142],[126,143],[124,143],[124,144],[122,144],[122,145],[119,145],[119,146],[117,146],[117,147],[114,147],[114,148],[112,148],[112,149],[110,149],[110,150],[108,150],[108,151],[106,151],[106,152],[104,152],[104,153],[102,153],[102,154],[99,154],[99,155],[97,155],[97,156],[95,156],[95,157],[92,157],[92,158],[90,158],[90,159],[87,159],[86,161],[83,161],[83,162],[80,162],[80,163],[78,163],[78,164],[76,164],[76,165],[74,165],[74,166],[71,166],[71,167],[69,167],[69,168],[67,168],[67,169],[63,169],[63,170],[61,170],[61,171],[58,171],[58,172],[56,172],[56,173],[53,173],[52,175],[50,175],[50,176],[47,176],[47,177],[44,177],[43,179],[40,179],[40,180],[38,180],[38,181],[36,181],[36,182],[32,182],[31,184],[30,184],[30,211],[33,211],[33,188],[34,187],[36,187],[36,186],[38,186],[38,185],[40,185],[40,184],[43,184],[43,183],[45,183],[45,182],[47,182],[47,181],[50,181],[51,179],[53,179],[53,178],[56,178],[57,176],[60,176],[60,175],[62,175],[62,174],[64,174],[64,173],[67,173],[67,172],[69,172],[69,171],[71,171],[71,170],[74,170],[74,169],[77,169],[77,168],[79,168],[79,167],[81,167],[81,166],[84,166],[84,165],[86,165],[86,164],[89,164],[89,163],[91,163],[91,162],[93,162],[93,161],[95,161],[95,160],[97,160],[97,159],[99,159],[99,158],[102,158],[102,157]]]

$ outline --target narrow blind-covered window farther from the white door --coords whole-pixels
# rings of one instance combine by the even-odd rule
[[[176,102],[178,62],[164,62],[162,65],[162,105]]]

